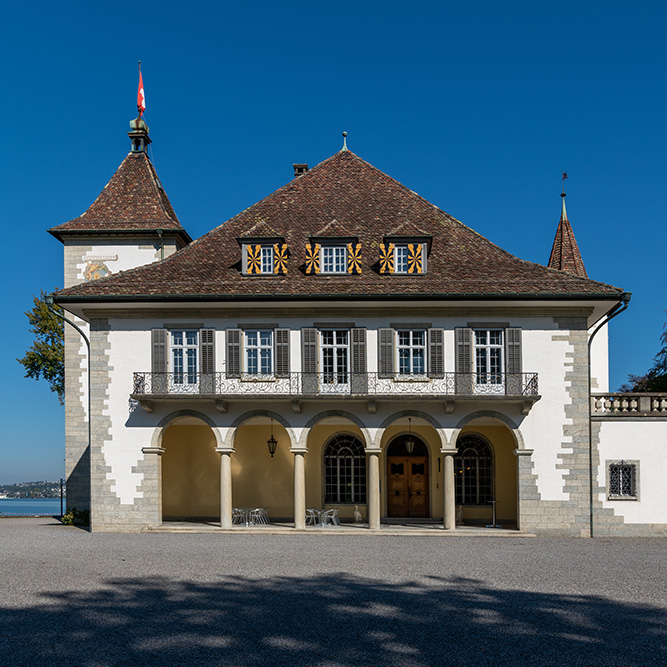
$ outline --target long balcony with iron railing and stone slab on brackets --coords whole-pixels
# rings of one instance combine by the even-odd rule
[[[214,400],[219,411],[227,401],[291,400],[300,411],[304,400],[367,400],[369,412],[378,400],[440,400],[452,412],[456,401],[499,400],[521,403],[527,414],[540,399],[537,373],[445,373],[442,377],[378,373],[290,373],[287,377],[226,373],[134,373],[131,397],[147,410],[152,402],[175,399]]]

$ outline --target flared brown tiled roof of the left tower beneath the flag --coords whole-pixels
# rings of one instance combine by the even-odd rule
[[[191,240],[145,150],[133,150],[85,213],[52,227],[49,233],[62,241],[65,235],[136,234],[158,229],[181,237],[185,243]]]

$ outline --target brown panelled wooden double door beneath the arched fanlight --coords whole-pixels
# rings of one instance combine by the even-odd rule
[[[387,456],[387,515],[427,517],[428,456]]]

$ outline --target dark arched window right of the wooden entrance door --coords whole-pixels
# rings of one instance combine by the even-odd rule
[[[454,483],[457,505],[487,505],[493,500],[491,448],[478,435],[462,435],[454,457]]]

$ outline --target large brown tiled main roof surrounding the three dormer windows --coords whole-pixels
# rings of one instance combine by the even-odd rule
[[[284,236],[284,276],[241,273],[236,238],[258,220]],[[306,244],[336,220],[336,232],[361,244],[360,275],[306,275]],[[410,223],[408,225],[408,222]],[[384,275],[379,246],[402,225],[433,237],[426,275]],[[520,260],[349,151],[341,151],[162,262],[120,272],[61,292],[79,297],[151,296],[183,299],[407,298],[429,295],[603,295],[621,290]]]

